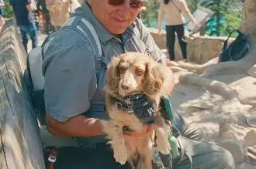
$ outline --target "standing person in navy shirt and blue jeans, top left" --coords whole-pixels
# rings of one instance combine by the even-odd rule
[[[37,46],[37,29],[33,18],[33,7],[31,0],[10,0],[17,25],[22,35],[22,43],[27,51],[29,37],[32,41],[32,48]]]

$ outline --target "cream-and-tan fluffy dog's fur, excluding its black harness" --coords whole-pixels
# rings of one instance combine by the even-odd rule
[[[112,59],[106,73],[106,110],[109,120],[102,120],[103,130],[112,145],[114,157],[120,164],[129,161],[132,168],[133,161],[139,161],[137,168],[151,169],[153,160],[153,146],[162,154],[171,150],[168,143],[168,130],[170,127],[161,117],[159,102],[161,96],[168,95],[168,88],[172,86],[170,69],[167,66],[155,63],[150,56],[138,52],[126,52]],[[150,136],[130,137],[123,135],[123,127],[141,132],[143,123],[134,114],[119,110],[112,103],[111,96],[123,100],[123,96],[144,93],[154,100],[157,105],[157,117],[154,130]],[[154,138],[156,140],[154,142]]]

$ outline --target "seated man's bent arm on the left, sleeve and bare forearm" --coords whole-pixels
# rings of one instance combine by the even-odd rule
[[[95,58],[90,42],[79,32],[64,29],[51,40],[43,59],[50,133],[73,137],[102,135],[99,120],[85,117],[97,83],[92,63]]]

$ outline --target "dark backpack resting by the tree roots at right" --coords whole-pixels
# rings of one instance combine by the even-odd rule
[[[234,42],[231,42],[230,45],[227,46],[227,42],[234,32],[238,32],[238,36]],[[239,60],[250,52],[251,43],[248,36],[244,35],[239,30],[234,30],[230,32],[229,37],[224,42],[223,51],[220,53],[219,62]]]

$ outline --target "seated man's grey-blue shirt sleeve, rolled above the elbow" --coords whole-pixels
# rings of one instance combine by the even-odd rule
[[[96,90],[92,52],[74,46],[51,46],[46,54],[43,73],[47,113],[61,122],[85,113]]]

